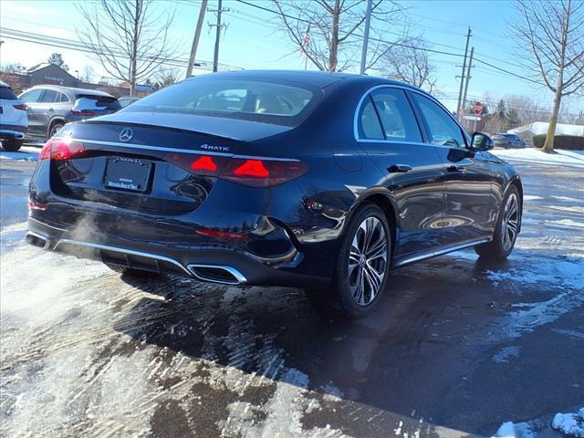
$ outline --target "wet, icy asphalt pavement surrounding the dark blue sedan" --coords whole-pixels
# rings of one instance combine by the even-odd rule
[[[584,405],[584,172],[515,162],[509,260],[444,255],[381,308],[320,318],[292,288],[135,280],[23,242],[34,162],[0,160],[5,436],[561,436]]]

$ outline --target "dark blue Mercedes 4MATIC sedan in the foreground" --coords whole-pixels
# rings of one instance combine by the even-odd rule
[[[129,276],[306,287],[358,318],[393,268],[466,247],[511,253],[523,189],[491,148],[390,79],[189,78],[47,141],[26,239]]]

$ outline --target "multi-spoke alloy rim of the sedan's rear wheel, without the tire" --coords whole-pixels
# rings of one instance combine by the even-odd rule
[[[357,228],[349,253],[349,287],[355,303],[369,305],[380,292],[388,261],[385,229],[376,217]]]

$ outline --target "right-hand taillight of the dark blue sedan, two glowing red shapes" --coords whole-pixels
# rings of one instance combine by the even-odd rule
[[[187,172],[214,176],[249,187],[272,187],[287,183],[307,172],[303,162],[296,160],[257,160],[228,158],[215,155],[168,154],[165,159]]]

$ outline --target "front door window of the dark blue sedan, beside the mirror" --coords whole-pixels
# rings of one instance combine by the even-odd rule
[[[431,99],[412,93],[428,125],[428,135],[433,144],[464,148],[464,135],[450,115]]]

